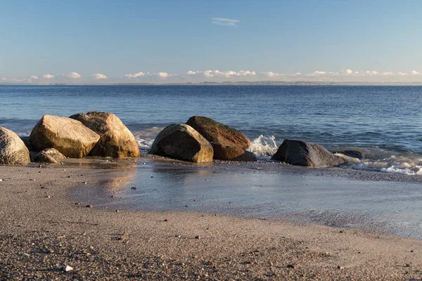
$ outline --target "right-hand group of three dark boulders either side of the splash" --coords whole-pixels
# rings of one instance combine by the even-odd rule
[[[249,138],[240,131],[207,117],[193,116],[186,124],[171,124],[163,129],[150,153],[197,163],[212,162],[212,159],[255,162],[255,155],[246,150],[250,145]],[[346,162],[322,145],[295,140],[283,141],[271,160],[312,167]]]

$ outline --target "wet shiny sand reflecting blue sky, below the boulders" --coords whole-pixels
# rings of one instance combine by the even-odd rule
[[[129,176],[89,190],[76,185],[72,200],[90,198],[109,211],[200,211],[422,237],[421,176],[276,162],[191,164],[151,155],[106,161],[85,160],[123,167]]]

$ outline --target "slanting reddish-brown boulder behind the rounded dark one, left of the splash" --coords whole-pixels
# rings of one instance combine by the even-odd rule
[[[250,140],[240,131],[208,117],[193,116],[186,122],[207,139],[214,148],[214,159],[257,161],[252,152],[245,151]]]

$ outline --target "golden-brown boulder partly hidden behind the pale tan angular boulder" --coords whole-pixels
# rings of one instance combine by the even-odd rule
[[[119,117],[108,112],[88,112],[72,115],[92,131],[100,135],[100,141],[89,152],[101,157],[139,157],[139,147],[134,135],[124,126]]]

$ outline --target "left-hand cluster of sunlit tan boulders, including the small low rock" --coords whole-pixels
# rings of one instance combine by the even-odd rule
[[[69,118],[44,115],[29,138],[0,127],[0,164],[56,163],[86,156],[139,157],[133,134],[108,112],[78,113]]]

